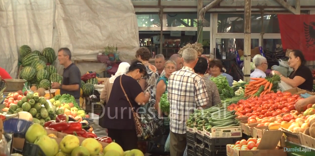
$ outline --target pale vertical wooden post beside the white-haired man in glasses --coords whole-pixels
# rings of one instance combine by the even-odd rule
[[[251,64],[251,13],[252,13],[252,0],[245,1],[244,11],[244,81],[250,81],[250,64]]]

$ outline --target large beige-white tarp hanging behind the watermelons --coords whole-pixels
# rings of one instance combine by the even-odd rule
[[[106,46],[120,59],[135,58],[138,23],[131,0],[0,0],[0,67],[17,75],[18,48],[68,47],[72,60],[96,60]],[[63,67],[56,61],[59,73]],[[100,63],[78,64],[83,75],[100,71]]]

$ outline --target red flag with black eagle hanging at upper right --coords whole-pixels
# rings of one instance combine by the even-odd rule
[[[283,49],[299,49],[315,60],[315,14],[278,14]]]

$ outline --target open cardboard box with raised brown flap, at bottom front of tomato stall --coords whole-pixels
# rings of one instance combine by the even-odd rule
[[[266,131],[257,147],[257,150],[238,150],[226,145],[227,156],[287,156],[284,149],[276,150],[282,132],[280,130]]]

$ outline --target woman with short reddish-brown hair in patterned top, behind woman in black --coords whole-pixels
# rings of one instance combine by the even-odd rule
[[[156,90],[158,81],[158,70],[157,68],[149,63],[151,52],[148,48],[141,47],[136,51],[136,57],[143,65],[146,66],[147,75],[142,77],[139,84],[143,91],[148,91],[151,96],[146,105],[147,108],[154,107],[156,103]]]

